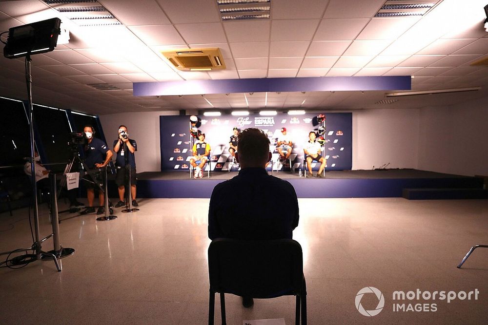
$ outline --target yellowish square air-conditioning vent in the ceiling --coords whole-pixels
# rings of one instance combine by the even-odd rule
[[[161,52],[175,68],[183,71],[224,70],[225,63],[218,47],[178,49]]]

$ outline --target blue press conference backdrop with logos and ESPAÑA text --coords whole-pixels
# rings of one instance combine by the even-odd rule
[[[228,151],[232,129],[238,127],[259,128],[270,140],[270,151],[273,153],[272,164],[274,170],[289,169],[279,161],[276,142],[281,135],[281,128],[285,127],[288,138],[293,142],[290,156],[292,167],[297,171],[304,168],[303,147],[308,141],[308,133],[316,131],[318,126],[312,125],[312,118],[317,114],[287,115],[281,113],[274,116],[250,114],[248,116],[222,115],[218,117],[202,118],[199,128],[205,134],[205,142],[211,147],[212,171],[228,171],[237,166],[232,164],[232,157]],[[322,156],[327,159],[326,170],[352,169],[352,113],[325,114],[325,150]],[[161,137],[161,170],[188,171],[192,156],[189,138],[189,116],[160,116]],[[195,139],[197,141],[197,139]],[[207,164],[208,166],[208,164]],[[315,169],[317,169],[318,165]],[[208,168],[208,167],[207,167]],[[271,168],[269,165],[268,169]]]

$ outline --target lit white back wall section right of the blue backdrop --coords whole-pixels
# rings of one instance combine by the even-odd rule
[[[352,136],[353,170],[418,168],[418,109],[353,111]]]

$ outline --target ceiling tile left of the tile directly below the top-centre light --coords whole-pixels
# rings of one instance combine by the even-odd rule
[[[186,43],[224,43],[224,28],[220,22],[175,25]]]

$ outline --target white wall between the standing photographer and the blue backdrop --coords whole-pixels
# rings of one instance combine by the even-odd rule
[[[137,141],[137,172],[159,172],[161,171],[159,116],[178,114],[178,111],[107,114],[100,115],[100,122],[110,147],[117,139],[119,125],[127,126],[129,137]]]

